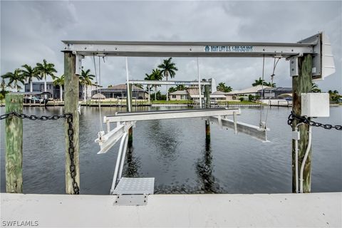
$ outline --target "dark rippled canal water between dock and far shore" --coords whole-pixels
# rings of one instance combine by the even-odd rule
[[[157,108],[153,108],[157,109]],[[165,108],[163,108],[165,109]],[[1,108],[1,114],[4,108]],[[138,110],[146,110],[139,108]],[[259,108],[241,108],[239,121],[259,124]],[[265,119],[267,108],[262,110]],[[102,108],[113,115],[120,108]],[[267,124],[271,142],[211,125],[205,144],[204,120],[150,120],[138,122],[133,147],[125,157],[124,177],[155,177],[157,194],[278,193],[291,192],[290,108],[270,108]],[[342,107],[331,107],[330,118],[342,123]],[[24,108],[28,115],[62,114],[62,107]],[[82,107],[80,117],[81,194],[107,195],[113,178],[118,145],[97,155],[98,108]],[[1,192],[5,187],[4,121],[1,121]],[[63,120],[24,120],[24,193],[63,194]],[[312,192],[342,191],[342,132],[313,129]]]

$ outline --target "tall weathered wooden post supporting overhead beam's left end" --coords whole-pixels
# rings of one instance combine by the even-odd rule
[[[76,76],[76,56],[70,52],[64,52],[64,76],[65,76],[65,91],[64,91],[64,113],[73,115],[73,145],[69,145],[68,138],[68,123],[65,124],[66,133],[66,193],[76,194],[73,187],[73,177],[71,175],[71,160],[75,164],[75,182],[80,187],[80,167],[78,160],[78,85],[79,79]],[[69,148],[73,147],[73,157],[69,154]],[[72,149],[71,149],[72,150]]]

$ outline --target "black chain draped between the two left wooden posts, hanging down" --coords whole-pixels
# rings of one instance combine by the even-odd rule
[[[4,120],[12,116],[16,116],[17,118],[28,119],[28,120],[58,120],[60,118],[66,119],[66,122],[68,123],[68,140],[69,140],[68,153],[70,157],[70,174],[71,174],[71,179],[73,181],[73,192],[76,195],[79,195],[80,188],[78,187],[78,184],[76,182],[76,165],[75,165],[75,156],[74,156],[75,147],[73,145],[73,114],[66,113],[63,115],[37,116],[37,115],[26,115],[24,113],[11,112],[11,113],[6,113],[4,115],[0,115],[0,120]]]

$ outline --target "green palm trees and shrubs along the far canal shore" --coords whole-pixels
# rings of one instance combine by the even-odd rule
[[[172,57],[164,59],[160,65],[157,66],[157,68],[152,69],[151,73],[145,73],[144,80],[147,81],[162,81],[163,78],[168,81],[168,78],[175,78],[176,71],[178,71],[178,68],[176,67],[176,64],[172,62]],[[55,86],[59,86],[60,88],[60,99],[63,100],[63,85],[64,85],[64,75],[61,75],[60,77],[56,76],[56,68],[53,63],[48,63],[46,59],[43,59],[42,63],[36,63],[36,66],[28,66],[28,64],[24,64],[21,66],[21,68],[16,68],[13,72],[5,73],[1,76],[1,83],[0,83],[0,100],[4,99],[4,96],[6,93],[9,93],[6,88],[14,88],[16,92],[19,92],[21,89],[21,84],[29,83],[30,84],[30,92],[33,92],[33,79],[36,79],[38,81],[44,80],[44,91],[46,92],[46,77],[51,76],[53,79],[53,84]],[[86,91],[88,90],[88,86],[91,86],[93,84],[93,79],[95,76],[90,73],[90,69],[84,71],[82,69],[81,76],[79,76],[80,84],[83,86],[83,100],[86,101]],[[8,82],[6,83],[7,80]],[[266,82],[264,79],[254,80],[254,83],[252,83],[252,86],[269,86],[272,88],[276,87],[276,83]],[[141,84],[136,84],[135,86],[138,86],[139,88],[142,88]],[[167,89],[166,96],[162,95],[160,91],[157,91],[157,87],[160,85],[153,85],[154,86],[154,100],[168,100],[168,93],[173,93],[177,90],[185,90],[187,87],[183,85],[179,85],[176,87],[170,87]],[[147,85],[146,90],[148,91],[149,98],[151,97],[150,91],[152,90],[152,85]],[[231,86],[226,86],[224,82],[220,82],[217,85],[217,90],[229,93],[233,90]],[[313,83],[312,86],[312,92],[314,93],[321,93],[321,89],[318,88],[318,85],[316,83]],[[337,90],[329,90],[328,91],[330,95],[331,100],[341,100],[342,96],[338,94]]]

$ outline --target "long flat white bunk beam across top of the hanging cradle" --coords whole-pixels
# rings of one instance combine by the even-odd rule
[[[167,120],[177,118],[204,118],[210,116],[224,116],[240,114],[240,109],[193,109],[193,110],[162,110],[153,112],[138,112],[138,113],[116,113],[113,116],[105,116],[104,123],[110,122],[125,122],[139,120]]]

